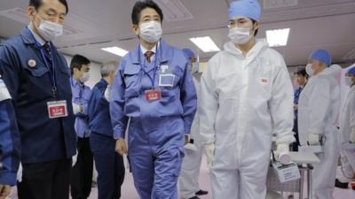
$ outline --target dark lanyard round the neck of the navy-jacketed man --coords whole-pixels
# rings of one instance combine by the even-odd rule
[[[32,33],[31,33],[32,34]],[[41,46],[41,44],[39,42],[36,41],[36,38],[35,36],[32,34],[32,36],[34,37],[34,40],[35,40],[35,44],[36,44],[36,47],[39,48],[40,52],[41,52],[41,57],[43,59],[43,62],[44,62],[44,65],[45,67],[48,69],[48,71],[51,73],[51,85],[52,85],[52,88],[51,88],[51,94],[53,96],[56,96],[56,93],[57,93],[57,76],[56,76],[56,66],[55,66],[55,62],[54,62],[54,59],[53,59],[53,46],[50,42],[50,59],[51,59],[51,67],[50,67],[50,64],[48,63],[48,60],[47,58],[45,57],[45,52],[43,50],[43,46]],[[52,69],[52,70],[51,70]]]

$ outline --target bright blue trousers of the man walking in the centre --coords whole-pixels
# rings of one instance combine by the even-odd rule
[[[152,130],[152,126],[156,128]],[[161,119],[152,121],[152,126],[131,119],[128,150],[134,185],[140,199],[177,199],[184,122],[180,118]]]

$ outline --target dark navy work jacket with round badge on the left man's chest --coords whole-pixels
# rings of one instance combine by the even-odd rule
[[[70,73],[66,59],[51,46],[54,65],[44,64],[43,47],[36,45],[28,28],[0,44],[0,73],[14,103],[22,164],[44,163],[75,154]],[[52,91],[54,83],[57,87],[55,95]],[[62,100],[67,101],[68,116],[50,119],[47,103]]]

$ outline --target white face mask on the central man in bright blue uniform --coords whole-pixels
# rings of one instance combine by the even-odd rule
[[[162,25],[154,20],[139,25],[140,37],[146,42],[158,42],[162,36]]]

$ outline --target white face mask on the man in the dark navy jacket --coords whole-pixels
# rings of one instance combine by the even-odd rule
[[[48,20],[41,19],[38,32],[46,42],[51,42],[63,34],[63,26]]]

